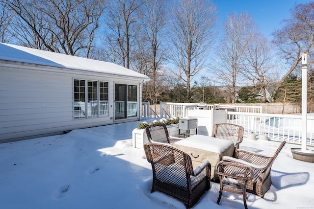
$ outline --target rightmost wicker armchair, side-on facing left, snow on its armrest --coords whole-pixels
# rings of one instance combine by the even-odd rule
[[[236,150],[238,159],[228,156],[224,156],[222,159],[223,161],[250,166],[254,172],[254,178],[252,181],[248,182],[246,190],[250,193],[257,194],[260,197],[264,197],[264,194],[268,191],[271,185],[271,166],[285,144],[286,141],[281,142],[273,156],[264,156],[247,150],[238,149]]]

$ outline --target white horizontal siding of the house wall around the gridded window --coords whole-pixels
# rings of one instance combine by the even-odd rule
[[[74,120],[73,75],[35,69],[0,67],[0,141],[112,123],[108,105],[107,117]]]

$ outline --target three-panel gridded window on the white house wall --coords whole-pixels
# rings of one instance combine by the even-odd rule
[[[108,82],[75,79],[74,118],[98,116],[108,116]]]

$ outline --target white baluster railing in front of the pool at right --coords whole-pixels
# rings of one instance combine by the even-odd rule
[[[244,127],[245,134],[266,134],[270,140],[301,144],[301,115],[228,112],[228,123]],[[307,145],[314,145],[314,116],[307,117]]]

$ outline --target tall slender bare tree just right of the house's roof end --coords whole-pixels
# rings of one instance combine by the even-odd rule
[[[146,0],[140,10],[140,17],[142,23],[142,33],[146,43],[142,50],[137,50],[141,53],[141,62],[146,69],[145,74],[151,77],[151,81],[147,84],[150,89],[151,101],[156,107],[159,100],[158,95],[165,91],[165,88],[160,87],[160,75],[158,72],[163,70],[162,66],[165,63],[166,54],[165,48],[162,45],[164,41],[164,28],[167,22],[167,1],[166,0]],[[144,49],[146,48],[146,49]],[[136,52],[134,52],[136,53]],[[139,66],[137,70],[139,70]]]

